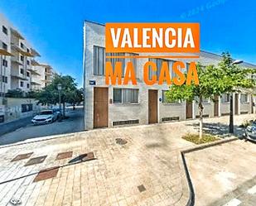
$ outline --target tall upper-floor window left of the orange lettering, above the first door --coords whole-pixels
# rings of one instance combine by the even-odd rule
[[[105,74],[105,48],[94,46],[94,75]]]

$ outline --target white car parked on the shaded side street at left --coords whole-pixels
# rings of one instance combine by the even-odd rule
[[[55,122],[58,117],[58,113],[55,113],[53,110],[42,110],[36,117],[33,117],[31,122],[36,124],[47,124]]]

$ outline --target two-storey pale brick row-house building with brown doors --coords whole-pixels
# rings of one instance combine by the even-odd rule
[[[104,25],[85,21],[84,25],[84,87],[85,87],[85,130],[98,127],[118,127],[121,125],[149,124],[196,118],[199,115],[196,101],[167,103],[165,92],[167,84],[148,86],[142,78],[142,66],[148,61],[145,58],[130,59],[136,68],[137,85],[106,85],[105,69],[105,28]],[[110,54],[111,55],[111,54]],[[112,54],[123,55],[123,54]],[[142,54],[125,54],[142,55]],[[153,55],[153,54],[147,54]],[[167,55],[167,54],[160,54]],[[200,51],[197,61],[202,65],[217,65],[220,55]],[[113,65],[118,59],[111,59]],[[171,64],[179,59],[151,59],[162,65]],[[119,59],[126,63],[128,59]],[[190,60],[186,61],[186,66]],[[256,65],[243,63],[242,66],[256,69]],[[170,70],[171,73],[171,70]],[[124,74],[124,68],[123,68]],[[159,71],[157,71],[159,74]],[[254,113],[253,95],[233,93],[234,114]],[[220,117],[229,114],[230,94],[216,97],[215,103],[204,99],[204,116]]]

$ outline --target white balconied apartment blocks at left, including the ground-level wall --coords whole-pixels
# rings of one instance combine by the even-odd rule
[[[38,63],[37,57],[39,53],[0,13],[0,123],[31,116],[40,108],[35,99],[6,95],[11,89],[25,94],[51,83],[53,69]]]

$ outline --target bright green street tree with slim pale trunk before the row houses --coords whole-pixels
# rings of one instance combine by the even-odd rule
[[[171,85],[167,92],[168,101],[186,100],[192,101],[196,99],[199,108],[199,137],[202,138],[203,133],[203,98],[210,98],[215,101],[215,95],[220,96],[222,93],[233,92],[240,88],[253,88],[254,69],[245,69],[232,65],[232,59],[228,53],[223,54],[223,58],[219,65],[208,65],[206,67],[197,64],[197,73],[200,84],[183,84],[181,86]]]

